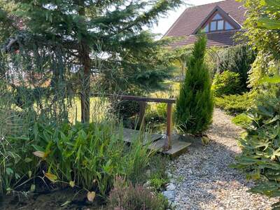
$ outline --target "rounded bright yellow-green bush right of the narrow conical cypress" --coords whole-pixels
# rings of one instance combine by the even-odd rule
[[[232,71],[216,73],[211,89],[217,97],[221,97],[225,94],[239,94],[241,92],[239,73]]]

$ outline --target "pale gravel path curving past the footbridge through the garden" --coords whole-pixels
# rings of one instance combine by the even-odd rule
[[[207,132],[209,145],[196,141],[188,153],[170,163],[176,209],[271,209],[277,202],[246,192],[253,183],[229,167],[241,152],[235,140],[241,132],[230,116],[216,109]]]

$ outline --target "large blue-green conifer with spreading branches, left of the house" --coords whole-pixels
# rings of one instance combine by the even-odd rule
[[[64,87],[64,98],[69,92],[80,94],[83,122],[90,120],[92,82],[112,92],[136,87],[148,91],[172,71],[169,62],[160,57],[167,41],[155,41],[155,34],[144,29],[179,6],[181,0],[13,3],[13,12],[4,7],[0,10],[0,23],[6,22],[2,31],[17,22],[12,16],[21,22],[2,43],[3,54],[10,57],[9,65],[1,69],[3,75],[10,75],[9,71],[15,72],[14,66],[19,66],[16,72],[31,75],[26,83],[37,80],[41,87],[53,87],[53,92]],[[11,58],[14,54],[20,62]],[[49,83],[45,74],[50,85],[42,81]]]

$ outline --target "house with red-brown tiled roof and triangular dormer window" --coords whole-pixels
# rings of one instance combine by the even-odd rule
[[[165,36],[181,37],[172,48],[193,44],[200,31],[207,34],[208,46],[235,45],[233,36],[246,20],[246,9],[235,0],[225,0],[186,8]]]

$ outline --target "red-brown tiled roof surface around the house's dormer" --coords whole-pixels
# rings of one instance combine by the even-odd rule
[[[239,25],[243,25],[244,20],[246,20],[245,12],[246,9],[235,0],[225,0],[216,3],[209,3],[202,6],[194,6],[191,8],[186,8],[186,10],[181,14],[181,16],[174,22],[174,25],[167,31],[165,36],[171,37],[186,37],[181,41],[172,43],[172,47],[188,45],[194,43],[196,38],[193,35],[195,29],[199,27],[202,22],[207,18],[207,16],[216,8],[220,7],[225,13],[228,13],[232,19],[234,19]],[[233,45],[234,41],[232,36],[235,31],[216,31],[207,33],[208,46],[218,45],[227,46]]]

